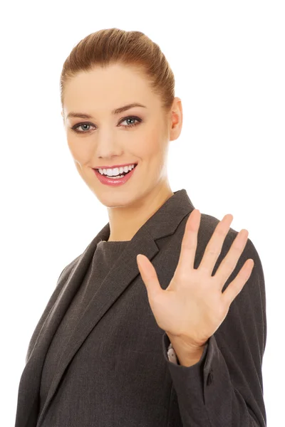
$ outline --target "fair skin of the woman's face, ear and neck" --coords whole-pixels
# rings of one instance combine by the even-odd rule
[[[146,108],[131,107],[112,114],[113,109],[132,102]],[[92,118],[67,118],[69,112],[82,112]],[[108,241],[130,241],[174,194],[167,178],[167,153],[170,141],[177,139],[182,129],[180,98],[175,97],[170,112],[165,113],[145,75],[117,63],[71,78],[64,88],[61,115],[76,169],[108,209]],[[129,116],[139,117],[142,122]],[[79,123],[80,134],[71,129]],[[133,123],[137,125],[130,127]],[[126,163],[138,166],[125,184],[116,187],[101,184],[92,169]]]

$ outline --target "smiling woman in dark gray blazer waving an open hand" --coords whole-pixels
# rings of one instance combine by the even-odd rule
[[[139,31],[92,33],[63,65],[68,147],[109,222],[63,269],[33,332],[16,427],[266,426],[261,261],[232,215],[172,192],[174,88]]]

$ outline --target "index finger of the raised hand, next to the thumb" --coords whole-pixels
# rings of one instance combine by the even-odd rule
[[[177,269],[179,269],[180,272],[187,273],[194,268],[200,220],[201,214],[199,209],[194,209],[187,219],[184,236],[181,242],[180,257],[177,263]]]

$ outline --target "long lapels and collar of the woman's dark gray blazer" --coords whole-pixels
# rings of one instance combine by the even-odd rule
[[[19,423],[19,425],[16,424],[16,427],[40,425],[48,408],[48,404],[53,398],[63,373],[69,362],[71,362],[74,354],[78,351],[79,347],[81,347],[81,344],[93,327],[95,327],[105,315],[105,312],[107,312],[115,300],[120,297],[128,285],[132,283],[135,277],[140,274],[136,260],[138,253],[146,255],[149,260],[152,260],[159,251],[155,241],[175,233],[177,226],[193,209],[195,208],[187,195],[187,191],[185,189],[175,191],[170,199],[167,199],[167,201],[160,206],[160,209],[158,209],[155,214],[142,225],[138,232],[135,233],[135,236],[129,241],[123,252],[123,262],[119,256],[113,268],[110,269],[108,275],[106,275],[103,280],[100,292],[96,293],[93,299],[88,303],[86,310],[82,312],[76,329],[73,331],[73,335],[61,359],[58,360],[58,366],[51,383],[51,388],[48,392],[41,414],[38,416],[38,423],[31,424],[28,420],[32,417],[31,413],[36,413],[36,408],[38,407],[41,370],[49,344],[51,344],[53,335],[63,315],[65,315],[68,306],[71,304],[73,297],[81,286],[98,242],[101,240],[107,241],[110,236],[109,223],[107,223],[99,231],[98,235],[93,238],[93,241],[91,241],[86,250],[78,257],[55,305],[53,305],[51,312],[43,323],[41,332],[28,359],[20,382],[20,388],[22,387],[23,389],[22,391],[21,389],[19,390],[19,396],[21,396],[20,393],[22,393],[22,395],[24,394],[24,396],[22,396],[21,401],[19,401],[18,408],[19,420],[26,421],[21,424]],[[118,280],[120,277],[123,277],[124,280]]]

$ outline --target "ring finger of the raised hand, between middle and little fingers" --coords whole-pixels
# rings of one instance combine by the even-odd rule
[[[241,231],[239,231],[237,237],[232,243],[232,246],[229,248],[227,255],[220,263],[219,268],[217,269],[214,277],[218,279],[218,283],[220,283],[221,290],[224,286],[224,283],[234,271],[234,268],[237,265],[237,261],[239,260],[240,255],[242,255],[244,247],[247,244],[248,236],[249,232],[247,230],[242,229]]]

